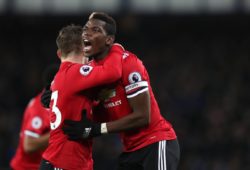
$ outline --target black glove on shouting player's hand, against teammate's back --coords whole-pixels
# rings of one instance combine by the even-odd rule
[[[62,130],[69,140],[87,139],[101,135],[101,124],[89,120],[84,109],[80,121],[64,120]]]

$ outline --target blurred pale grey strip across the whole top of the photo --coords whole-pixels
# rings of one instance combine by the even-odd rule
[[[0,13],[82,15],[109,13],[234,13],[250,11],[250,0],[0,0]]]

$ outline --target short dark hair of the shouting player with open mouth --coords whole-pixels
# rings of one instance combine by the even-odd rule
[[[114,18],[109,16],[108,14],[104,12],[92,12],[89,16],[90,19],[98,19],[101,21],[104,21],[106,24],[104,26],[105,31],[108,35],[114,35],[116,34],[116,22]]]

